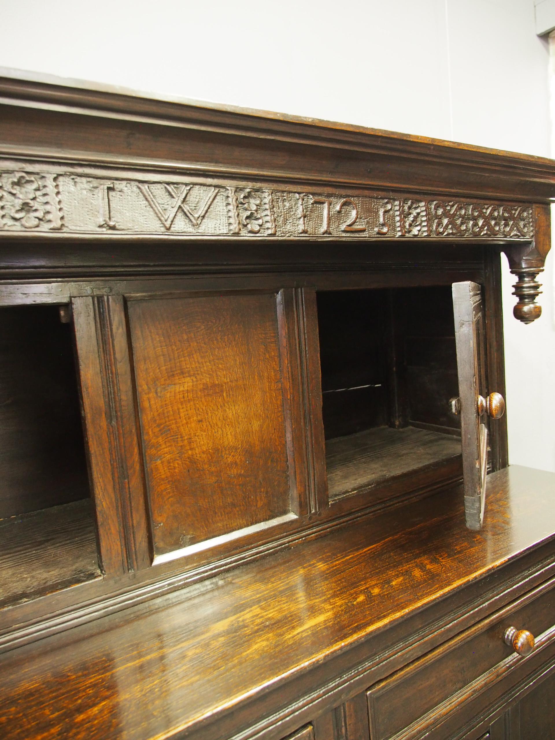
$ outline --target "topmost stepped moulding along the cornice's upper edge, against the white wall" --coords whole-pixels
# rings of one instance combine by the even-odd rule
[[[463,166],[477,169],[483,175],[519,178],[523,199],[529,199],[526,181],[536,183],[536,187],[539,183],[544,185],[540,199],[555,198],[555,162],[548,158],[315,118],[177,98],[153,98],[148,93],[44,75],[20,79],[8,76],[7,70],[0,72],[4,73],[0,76],[2,105],[49,110],[74,117],[109,118],[129,124],[195,129],[215,135],[262,138],[284,144],[332,147],[345,152],[386,154],[390,158],[433,162],[435,166]],[[499,192],[499,197],[502,196]]]

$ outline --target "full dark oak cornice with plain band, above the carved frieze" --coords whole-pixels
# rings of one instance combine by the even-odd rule
[[[7,114],[2,130],[6,145],[78,151],[90,161],[101,155],[121,158],[125,152],[128,159],[158,158],[174,169],[185,158],[205,164],[213,155],[209,134],[217,133],[221,166],[239,160],[258,172],[291,173],[309,161],[312,167],[305,164],[306,175],[333,182],[399,187],[410,181],[437,192],[494,192],[518,198],[524,196],[525,183],[539,201],[553,193],[554,164],[547,158],[283,113],[153,100],[141,92],[91,83],[85,88],[75,81],[29,73],[26,80],[4,73],[0,92]],[[21,118],[25,132],[17,130]],[[64,118],[73,121],[71,138],[59,125]],[[250,158],[244,152],[238,155],[241,143],[249,145]],[[312,147],[317,152],[311,152]]]

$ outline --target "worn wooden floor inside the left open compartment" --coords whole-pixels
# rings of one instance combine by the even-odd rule
[[[0,607],[100,575],[90,499],[0,519]]]

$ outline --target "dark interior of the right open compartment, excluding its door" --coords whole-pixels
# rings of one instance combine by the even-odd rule
[[[318,292],[331,501],[462,476],[451,286]]]

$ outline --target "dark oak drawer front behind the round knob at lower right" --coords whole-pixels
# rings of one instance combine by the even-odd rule
[[[538,650],[555,639],[554,623],[555,579],[375,684],[367,691],[372,740],[421,736],[526,660],[505,645],[506,628],[529,630]]]

